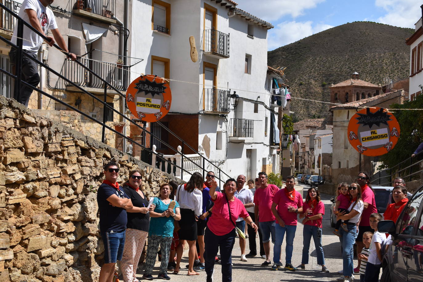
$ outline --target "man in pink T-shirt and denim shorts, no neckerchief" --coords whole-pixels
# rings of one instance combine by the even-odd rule
[[[260,187],[255,190],[254,194],[254,214],[258,218],[256,225],[259,226],[263,236],[263,248],[266,254],[266,260],[262,266],[272,264],[270,262],[270,235],[272,235],[272,242],[275,242],[275,216],[272,213],[273,197],[279,188],[273,184],[267,184],[266,172],[258,172],[258,182]],[[258,224],[257,224],[258,223]]]

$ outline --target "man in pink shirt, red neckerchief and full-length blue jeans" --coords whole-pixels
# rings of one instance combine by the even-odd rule
[[[297,214],[302,214],[302,194],[294,189],[294,176],[288,176],[285,183],[286,187],[276,192],[272,203],[272,213],[276,218],[276,240],[273,246],[274,264],[272,270],[277,270],[278,267],[282,266],[280,246],[282,246],[283,237],[286,233],[285,269],[295,271],[297,268],[292,266],[291,257],[294,249],[295,231],[297,230]]]

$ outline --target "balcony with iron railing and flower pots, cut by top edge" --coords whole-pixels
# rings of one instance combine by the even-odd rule
[[[115,24],[116,0],[76,0],[72,12],[79,16]]]

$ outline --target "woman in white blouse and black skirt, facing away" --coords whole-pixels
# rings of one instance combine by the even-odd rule
[[[190,181],[184,185],[179,185],[175,193],[176,201],[181,208],[181,220],[179,221],[179,245],[176,249],[176,267],[174,273],[179,272],[184,240],[187,240],[188,251],[188,274],[198,275],[193,269],[195,260],[195,241],[197,240],[197,218],[202,214],[203,208],[203,189],[204,179],[201,173],[194,172]]]

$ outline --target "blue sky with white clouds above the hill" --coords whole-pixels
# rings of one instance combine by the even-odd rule
[[[423,0],[238,0],[247,11],[275,28],[268,31],[273,50],[347,22],[370,21],[414,28]]]

